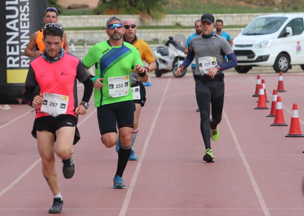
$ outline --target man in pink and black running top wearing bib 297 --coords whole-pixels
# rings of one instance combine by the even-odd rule
[[[54,167],[54,152],[62,159],[63,176],[73,177],[73,144],[80,139],[76,127],[77,117],[87,113],[93,91],[92,80],[83,64],[61,47],[62,37],[63,28],[60,24],[45,25],[45,50],[31,62],[23,92],[24,101],[36,109],[32,135],[37,139],[43,176],[54,194],[49,213],[61,213],[63,205]],[[77,101],[76,78],[84,85],[80,104]],[[40,86],[41,91],[33,98],[36,85]]]

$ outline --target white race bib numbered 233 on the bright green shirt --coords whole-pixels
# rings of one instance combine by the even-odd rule
[[[129,94],[129,75],[122,77],[108,77],[109,95],[112,98]]]

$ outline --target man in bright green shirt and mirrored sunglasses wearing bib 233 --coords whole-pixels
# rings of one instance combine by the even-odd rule
[[[134,124],[133,95],[131,91],[131,69],[144,77],[143,67],[138,50],[129,43],[124,43],[122,36],[126,29],[122,19],[111,17],[106,23],[109,40],[94,45],[83,58],[87,68],[95,64],[94,99],[97,107],[97,118],[101,141],[106,147],[117,143],[118,123],[120,149],[118,165],[113,179],[113,188],[126,188],[122,173],[131,154],[131,133]]]

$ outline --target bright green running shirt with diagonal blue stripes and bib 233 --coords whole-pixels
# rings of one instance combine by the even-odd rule
[[[112,47],[109,40],[94,45],[83,58],[83,64],[91,68],[95,64],[95,76],[104,78],[105,85],[94,89],[95,106],[133,100],[131,69],[143,65],[138,50],[129,43]]]

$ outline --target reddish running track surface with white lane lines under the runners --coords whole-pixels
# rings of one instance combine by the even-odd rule
[[[285,121],[298,103],[303,132],[304,74],[283,76]],[[261,74],[270,101],[278,77]],[[207,164],[192,76],[152,77],[135,144],[139,160],[128,162],[120,190],[112,187],[118,156],[100,141],[91,98],[79,117],[72,179],[64,179],[56,157],[62,215],[302,215],[304,139],[285,138],[289,126],[270,127],[270,110],[254,110],[255,79],[226,74],[221,136],[211,143],[216,162]],[[10,106],[0,110],[0,215],[47,215],[53,195],[30,134],[34,114],[25,114],[27,105]]]

